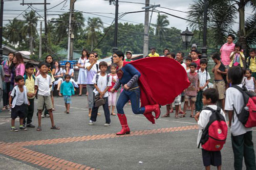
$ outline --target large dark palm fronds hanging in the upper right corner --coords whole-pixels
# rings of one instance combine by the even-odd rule
[[[254,15],[248,17],[247,20],[245,20],[244,16],[245,6],[250,6],[254,12]],[[204,0],[197,0],[194,4],[190,5],[189,9],[188,18],[192,21],[189,22],[189,26],[193,29],[202,30]],[[225,42],[227,34],[233,33],[239,37],[239,42],[242,44],[243,50],[246,51],[249,45],[256,42],[255,12],[256,0],[210,0],[207,22],[208,27],[211,27],[214,32],[216,46]],[[236,32],[232,30],[232,27],[238,14],[239,31]]]

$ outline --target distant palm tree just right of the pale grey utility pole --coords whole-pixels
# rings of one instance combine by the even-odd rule
[[[160,13],[158,13],[157,23],[152,24],[154,27],[156,27],[156,35],[159,36],[160,42],[162,38],[165,38],[165,34],[168,30],[166,28],[169,25],[167,18],[167,15],[160,15]]]

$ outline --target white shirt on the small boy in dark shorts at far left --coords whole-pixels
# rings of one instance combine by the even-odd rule
[[[12,101],[12,108],[14,108],[15,105],[17,105],[17,106],[20,106],[22,104],[28,105],[27,88],[26,88],[26,86],[23,86],[23,89],[24,89],[23,92],[19,91],[18,86],[15,86],[12,89],[11,96],[13,97],[14,93],[15,93],[15,98],[13,98],[13,101]]]

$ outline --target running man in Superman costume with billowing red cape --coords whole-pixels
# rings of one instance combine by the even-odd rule
[[[124,54],[116,51],[113,62],[117,64],[118,81],[111,91],[123,85],[117,101],[117,115],[122,130],[117,135],[130,134],[127,119],[123,111],[130,100],[135,114],[143,114],[152,124],[160,116],[160,105],[173,103],[176,96],[189,86],[183,66],[174,59],[151,57],[125,62]],[[141,107],[140,107],[141,100]],[[152,112],[155,112],[155,116]]]

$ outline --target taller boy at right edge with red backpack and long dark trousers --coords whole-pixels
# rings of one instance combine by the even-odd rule
[[[239,66],[228,69],[227,81],[232,87],[226,91],[225,110],[228,111],[234,169],[242,169],[243,157],[246,169],[256,169],[251,128],[256,125],[252,118],[255,117],[255,104],[252,99],[255,96],[248,95],[246,88],[241,84],[242,79],[243,70]]]

